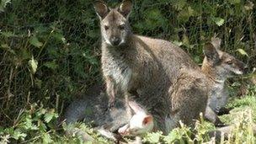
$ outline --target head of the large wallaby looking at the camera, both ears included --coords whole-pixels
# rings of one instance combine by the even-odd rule
[[[128,17],[131,12],[131,0],[124,0],[116,8],[108,8],[106,3],[96,1],[94,8],[100,19],[102,39],[107,45],[119,46],[125,44],[131,28]]]

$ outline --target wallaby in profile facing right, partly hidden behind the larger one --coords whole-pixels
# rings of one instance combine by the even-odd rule
[[[234,56],[220,51],[221,40],[214,37],[211,43],[205,45],[205,59],[202,64],[202,72],[211,80],[210,96],[207,108],[205,110],[205,118],[213,122],[215,125],[223,125],[218,119],[217,114],[228,113],[223,112],[227,104],[228,91],[225,82],[228,77],[243,74],[245,64],[237,60]]]

